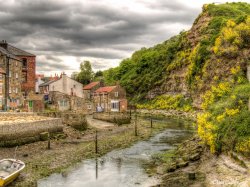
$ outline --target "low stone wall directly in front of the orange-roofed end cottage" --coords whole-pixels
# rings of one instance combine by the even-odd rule
[[[94,119],[116,123],[118,125],[130,123],[130,116],[127,113],[118,112],[96,112],[93,114]]]

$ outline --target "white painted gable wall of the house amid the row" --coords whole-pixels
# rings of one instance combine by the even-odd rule
[[[83,85],[65,74],[59,80],[51,83],[49,87],[50,91],[58,91],[68,95],[71,95],[71,91],[73,91],[76,96],[83,98]]]

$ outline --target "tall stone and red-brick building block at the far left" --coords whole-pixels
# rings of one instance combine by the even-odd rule
[[[24,105],[35,89],[36,56],[0,42],[0,110]]]

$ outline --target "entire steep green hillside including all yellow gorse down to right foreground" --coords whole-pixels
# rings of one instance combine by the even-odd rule
[[[250,4],[204,5],[189,31],[142,48],[104,72],[148,109],[201,109],[198,134],[212,152],[250,156]]]

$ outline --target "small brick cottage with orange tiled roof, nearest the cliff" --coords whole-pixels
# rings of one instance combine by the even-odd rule
[[[96,112],[126,112],[126,91],[120,85],[100,87],[93,94]]]

